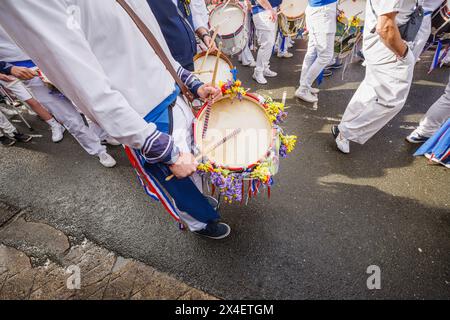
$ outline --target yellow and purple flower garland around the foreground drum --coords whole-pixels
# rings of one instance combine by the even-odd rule
[[[242,88],[239,80],[221,83],[222,93],[229,95],[232,99],[240,100],[247,94]],[[294,151],[297,143],[297,136],[284,134],[280,127],[287,118],[287,112],[283,103],[275,102],[270,97],[261,97],[260,102],[264,106],[274,129],[278,132],[278,146],[273,150],[274,158],[286,158]],[[276,161],[275,161],[276,162]],[[210,161],[201,163],[198,166],[200,175],[209,174],[209,181],[212,185],[212,193],[217,190],[226,202],[244,202],[244,195],[247,194],[247,201],[251,196],[256,196],[261,187],[268,189],[273,185],[273,175],[278,171],[278,164],[272,163],[270,157],[252,168],[247,168],[242,172],[233,172],[218,166]],[[248,192],[245,191],[245,182],[248,182]]]

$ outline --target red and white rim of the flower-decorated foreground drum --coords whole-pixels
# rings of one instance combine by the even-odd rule
[[[219,102],[219,101],[225,100],[225,99],[230,99],[230,100],[232,100],[232,98],[230,97],[230,95],[226,95],[226,96],[223,96],[222,98],[220,98],[219,100],[217,100],[216,103]],[[255,96],[255,95],[253,95],[253,94],[251,94],[251,93],[247,93],[245,96],[243,96],[243,99],[247,99],[247,100],[256,102],[256,104],[257,104],[261,109],[263,109],[263,111],[264,111],[265,114],[267,115],[266,107],[264,107],[264,105],[259,101],[259,99],[258,99],[257,96]],[[199,120],[200,117],[203,115],[203,113],[206,111],[206,108],[207,108],[207,107],[208,107],[208,102],[205,102],[205,104],[203,105],[203,107],[202,107],[202,108],[197,112],[197,114],[195,115],[195,121],[194,121],[193,129],[194,129],[194,143],[195,143],[196,145],[197,145],[197,141],[198,141],[198,139],[197,139],[197,138],[198,138],[198,137],[197,137],[197,128],[198,128],[198,124],[199,124],[198,120]],[[234,167],[227,167],[227,166],[224,166],[224,165],[221,165],[221,164],[218,164],[217,166],[220,167],[220,168],[228,169],[228,170],[233,171],[233,172],[241,172],[241,171],[244,171],[244,170],[246,170],[246,169],[254,168],[254,167],[257,166],[258,164],[264,162],[264,160],[265,160],[265,159],[268,157],[268,155],[270,154],[270,149],[272,149],[272,148],[274,147],[274,145],[275,145],[276,133],[277,133],[277,129],[274,127],[274,125],[273,125],[273,123],[270,121],[269,117],[266,117],[266,119],[267,119],[267,122],[269,123],[270,127],[272,128],[271,142],[270,142],[269,148],[264,152],[264,154],[263,154],[261,157],[259,157],[259,160],[258,160],[258,161],[256,161],[255,163],[251,163],[251,164],[249,164],[249,165],[246,166],[246,167],[237,167],[237,168],[234,168]],[[216,163],[215,163],[215,162],[211,162],[211,164],[216,164]]]

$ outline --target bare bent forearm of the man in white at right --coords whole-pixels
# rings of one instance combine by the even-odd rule
[[[408,46],[403,41],[395,20],[397,12],[380,15],[376,31],[383,43],[392,50],[397,57],[404,58],[408,53]]]

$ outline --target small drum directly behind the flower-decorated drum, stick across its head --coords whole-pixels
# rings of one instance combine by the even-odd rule
[[[216,66],[217,61],[217,53],[210,53],[208,58],[205,61],[206,52],[202,52],[197,54],[194,57],[194,65],[195,65],[195,75],[204,83],[211,83],[214,73],[214,68]],[[200,70],[203,65],[203,70]],[[220,81],[227,82],[233,78],[231,74],[231,69],[233,69],[233,64],[230,59],[227,58],[224,54],[221,54],[219,57],[219,66],[217,68],[217,76],[216,76],[216,84]]]

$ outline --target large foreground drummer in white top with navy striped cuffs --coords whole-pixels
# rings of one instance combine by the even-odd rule
[[[60,0],[2,0],[0,23],[83,113],[134,150],[133,157],[139,161],[136,167],[152,186],[147,191],[173,217],[200,236],[227,237],[230,227],[218,222],[219,214],[188,178],[197,168],[191,153],[194,116],[179,97],[173,77],[116,2],[76,3],[83,19],[71,28],[67,27],[70,3]],[[193,94],[201,98],[220,95],[220,90],[201,83],[174,61],[144,0],[127,3],[154,34]],[[157,127],[156,118],[164,123]],[[173,119],[172,133],[169,119]],[[166,181],[170,172],[177,179]]]

